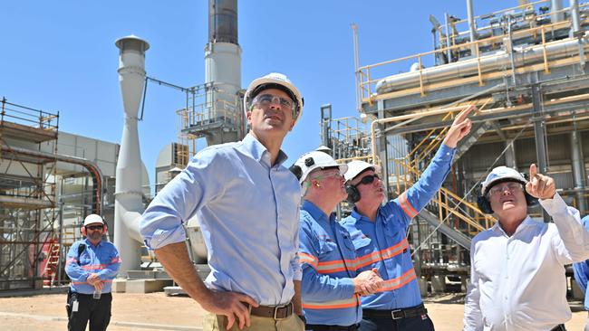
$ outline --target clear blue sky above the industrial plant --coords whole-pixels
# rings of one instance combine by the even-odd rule
[[[475,1],[475,14],[517,1]],[[286,137],[297,156],[320,144],[320,106],[333,117],[356,116],[352,29],[359,26],[361,65],[431,50],[433,14],[466,18],[465,1],[239,1],[242,86],[271,71],[287,74],[302,91],[304,116]],[[208,1],[9,1],[1,6],[0,98],[60,111],[60,130],[119,142],[122,105],[118,49],[130,33],[150,43],[150,77],[180,86],[204,82]],[[391,68],[409,70],[410,63]],[[153,173],[159,150],[176,141],[176,110],[184,95],[150,85],[140,122],[143,162]]]

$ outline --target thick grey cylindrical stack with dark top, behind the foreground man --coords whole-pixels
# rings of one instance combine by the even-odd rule
[[[224,119],[241,125],[237,91],[241,90],[241,47],[237,41],[237,0],[208,1],[208,43],[205,46],[205,81],[208,85],[204,119]],[[210,132],[208,146],[237,141],[237,131]]]

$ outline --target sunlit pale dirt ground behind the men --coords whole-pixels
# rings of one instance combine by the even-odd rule
[[[201,326],[204,310],[190,298],[167,297],[164,293],[113,293],[112,296],[111,331],[158,330],[165,329],[162,328],[164,326],[184,326],[187,330],[198,330]],[[64,301],[64,294],[0,298],[0,329],[65,330],[67,321]],[[425,303],[437,331],[462,328],[463,295],[426,298]],[[572,309],[573,319],[566,323],[567,330],[583,330],[587,313],[578,302],[572,304]]]

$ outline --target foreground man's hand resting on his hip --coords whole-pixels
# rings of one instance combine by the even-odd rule
[[[239,322],[239,329],[244,326],[250,326],[249,309],[247,305],[257,307],[256,301],[237,292],[221,292],[208,289],[208,295],[200,303],[200,306],[217,315],[227,317],[227,330],[233,326],[236,321]]]

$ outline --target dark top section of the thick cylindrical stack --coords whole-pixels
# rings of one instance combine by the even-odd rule
[[[237,42],[237,0],[208,0],[208,43]]]

